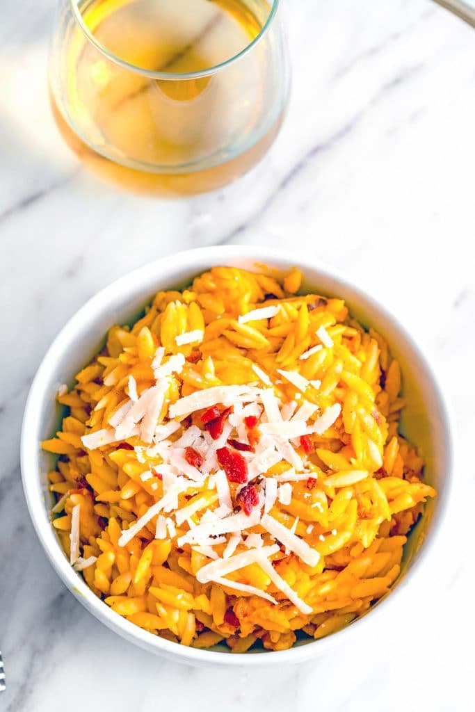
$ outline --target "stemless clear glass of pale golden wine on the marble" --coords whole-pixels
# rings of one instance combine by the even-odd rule
[[[289,80],[279,0],[59,0],[53,114],[128,189],[194,194],[244,174],[278,133]]]

